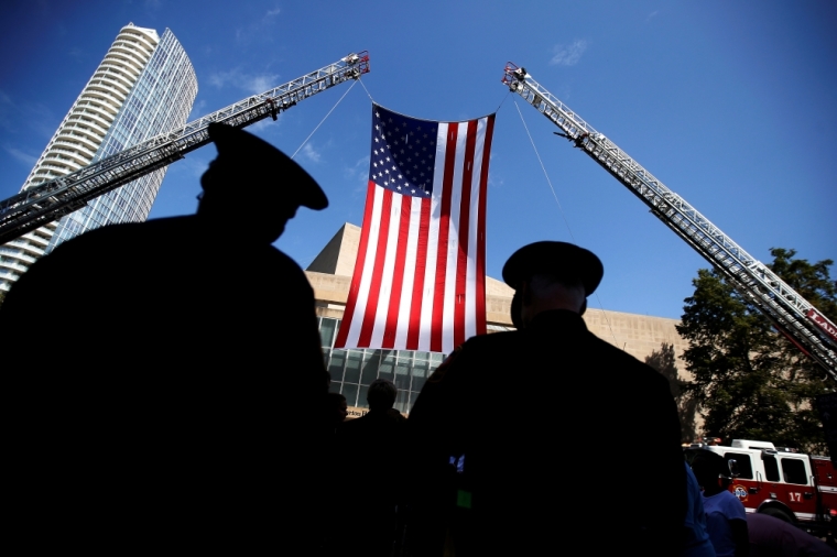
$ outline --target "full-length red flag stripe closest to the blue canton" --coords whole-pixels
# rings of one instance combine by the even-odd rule
[[[445,174],[442,177],[442,207],[438,221],[438,250],[436,252],[436,284],[433,295],[433,319],[431,320],[431,352],[442,351],[442,332],[445,314],[445,274],[447,271],[447,236],[450,229],[450,197],[454,188],[456,163],[456,135],[459,124],[447,124],[445,148]]]

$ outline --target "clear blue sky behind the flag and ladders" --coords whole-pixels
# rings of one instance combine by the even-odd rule
[[[128,22],[170,28],[195,66],[191,118],[368,50],[376,101],[435,120],[501,106],[488,198],[488,272],[535,240],[570,241],[507,61],[683,196],[742,248],[837,259],[837,3],[833,1],[18,1],[0,6],[0,198],[35,159]],[[251,131],[293,153],[348,85]],[[522,100],[576,243],[605,263],[607,309],[680,317],[708,264]],[[303,267],[361,223],[370,101],[356,86],[297,160],[331,205],[301,210],[278,247]],[[151,217],[194,212],[206,146],[172,165]],[[247,195],[246,184],[241,185]],[[216,277],[236,272],[218,254]],[[837,271],[834,271],[837,274]],[[591,307],[599,306],[591,299]]]

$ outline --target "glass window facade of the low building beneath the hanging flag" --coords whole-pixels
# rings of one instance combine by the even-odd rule
[[[346,396],[348,406],[366,408],[369,384],[388,379],[399,390],[395,409],[410,412],[427,378],[439,367],[445,354],[413,350],[335,350],[334,339],[340,319],[319,317],[319,336],[326,368],[331,374],[333,393]]]

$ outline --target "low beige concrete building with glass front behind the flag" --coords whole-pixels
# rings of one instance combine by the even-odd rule
[[[425,380],[442,363],[445,354],[412,350],[334,350],[334,339],[343,318],[355,269],[360,227],[345,223],[308,265],[305,273],[317,301],[319,331],[326,365],[331,373],[331,391],[341,392],[349,414],[360,415],[367,407],[366,393],[378,378],[389,379],[399,387],[395,408],[407,413]],[[503,282],[486,277],[486,310],[491,331],[512,328],[510,318],[513,291]],[[686,342],[677,335],[676,319],[651,317],[588,308],[587,327],[599,338],[615,345],[641,361],[663,342],[674,346],[677,367]]]

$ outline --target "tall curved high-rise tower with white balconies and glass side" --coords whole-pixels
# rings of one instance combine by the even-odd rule
[[[39,157],[22,189],[186,123],[197,78],[170,30],[129,23]],[[0,247],[0,291],[64,240],[104,225],[148,218],[165,168],[109,192],[86,207]]]

